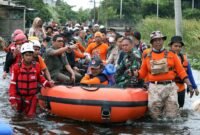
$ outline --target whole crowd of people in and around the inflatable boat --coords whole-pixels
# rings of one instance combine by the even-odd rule
[[[148,110],[153,119],[176,118],[186,90],[199,95],[181,36],[173,36],[169,49],[160,31],[142,42],[139,31],[103,25],[67,23],[44,27],[37,17],[28,33],[16,29],[7,52],[3,78],[11,74],[11,106],[34,116],[39,88],[55,84],[95,84],[148,90]],[[3,41],[1,41],[3,42]],[[40,84],[40,85],[38,85]],[[185,84],[187,87],[185,87]],[[38,87],[40,86],[40,87]]]

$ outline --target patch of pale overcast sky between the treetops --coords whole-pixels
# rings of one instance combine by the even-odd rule
[[[94,0],[65,0],[67,4],[71,6],[76,6],[73,8],[73,10],[77,11],[79,8],[93,8],[94,7]],[[96,1],[96,6],[99,5],[100,0],[95,0]]]

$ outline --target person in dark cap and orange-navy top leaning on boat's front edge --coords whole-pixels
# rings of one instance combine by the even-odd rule
[[[87,74],[81,79],[82,84],[108,85],[108,78],[103,74],[104,65],[99,57],[93,57]]]

